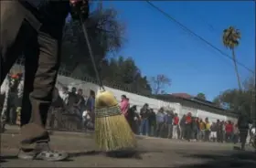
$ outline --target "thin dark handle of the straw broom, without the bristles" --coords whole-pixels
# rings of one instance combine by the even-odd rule
[[[92,49],[91,49],[91,43],[90,43],[90,41],[89,41],[88,33],[87,33],[87,30],[86,30],[86,27],[85,27],[85,24],[84,24],[84,22],[83,22],[83,19],[82,19],[82,16],[81,16],[81,15],[80,15],[80,24],[81,24],[81,27],[82,27],[82,31],[83,31],[83,35],[84,35],[84,38],[85,38],[87,47],[88,47],[88,49],[89,49],[89,55],[90,55],[90,57],[91,57],[91,63],[92,63],[92,66],[93,66],[93,68],[94,68],[94,71],[95,71],[96,79],[98,80],[100,89],[101,89],[101,90],[105,90],[104,87],[103,87],[103,84],[102,84],[102,80],[101,80],[99,71],[98,71],[98,69],[97,69],[97,67],[96,67],[95,59],[94,59],[94,57],[93,57],[94,55],[93,55]]]

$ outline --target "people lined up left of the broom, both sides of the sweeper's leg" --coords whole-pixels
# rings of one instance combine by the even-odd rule
[[[5,131],[5,124],[20,124],[20,111],[23,98],[22,73],[9,74],[1,86],[0,110],[1,131]],[[76,115],[79,119],[77,129],[91,129],[94,121],[95,92],[90,90],[89,95],[82,89],[75,87],[55,88],[51,107],[48,111],[48,127],[52,128],[57,120],[58,113]],[[83,127],[84,126],[84,127]]]

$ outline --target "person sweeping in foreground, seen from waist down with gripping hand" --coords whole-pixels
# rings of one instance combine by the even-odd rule
[[[60,43],[65,19],[76,6],[88,16],[86,0],[6,0],[0,1],[0,84],[16,58],[25,53],[25,89],[21,111],[20,159],[60,161],[63,152],[48,150],[45,130],[60,58]],[[78,18],[77,13],[72,13]]]

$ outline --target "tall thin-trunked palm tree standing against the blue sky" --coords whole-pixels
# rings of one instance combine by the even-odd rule
[[[229,26],[229,28],[223,31],[222,42],[225,47],[228,47],[232,51],[232,58],[235,66],[237,79],[238,79],[239,89],[241,90],[240,75],[239,75],[237,60],[235,56],[235,47],[238,47],[240,45],[240,30],[236,29],[233,26]]]

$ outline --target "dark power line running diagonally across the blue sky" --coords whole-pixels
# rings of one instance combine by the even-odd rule
[[[186,30],[188,33],[192,34],[193,36],[197,37],[198,39],[200,39],[201,41],[203,41],[204,43],[206,43],[209,47],[214,48],[215,50],[219,51],[219,53],[223,56],[225,56],[226,58],[229,58],[230,60],[233,61],[233,58],[230,57],[229,55],[227,55],[226,53],[224,53],[223,51],[221,51],[218,47],[215,47],[213,44],[211,44],[210,42],[208,42],[208,40],[206,40],[203,37],[200,37],[199,35],[197,35],[197,33],[193,32],[191,29],[189,29],[187,26],[184,26],[183,24],[181,24],[179,21],[177,21],[174,17],[170,16],[169,14],[167,14],[164,10],[162,10],[161,8],[157,7],[156,5],[154,5],[153,3],[151,3],[150,1],[145,1],[147,4],[151,5],[152,7],[154,7],[158,12],[162,13],[164,16],[166,16],[168,19],[170,19],[171,21],[175,22],[178,26],[181,26],[184,30]],[[246,67],[244,64],[240,63],[239,61],[236,61],[238,65],[240,65],[240,67],[247,69],[248,71],[250,71],[252,74],[254,74],[254,71],[251,70],[251,68]]]

